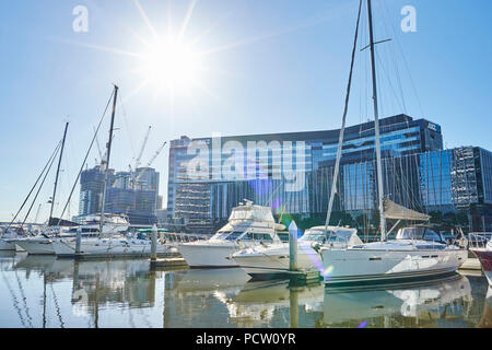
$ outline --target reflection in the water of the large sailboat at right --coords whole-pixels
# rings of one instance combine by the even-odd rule
[[[462,276],[397,289],[327,289],[324,324],[328,327],[446,327],[437,323],[459,318],[471,301],[470,282]]]

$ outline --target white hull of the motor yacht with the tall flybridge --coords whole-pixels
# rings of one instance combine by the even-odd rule
[[[190,268],[233,268],[237,262],[230,256],[237,250],[235,244],[179,244],[178,250]]]

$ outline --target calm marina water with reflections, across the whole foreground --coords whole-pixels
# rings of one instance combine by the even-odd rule
[[[398,289],[290,289],[241,269],[0,253],[0,327],[491,327],[480,272]]]

